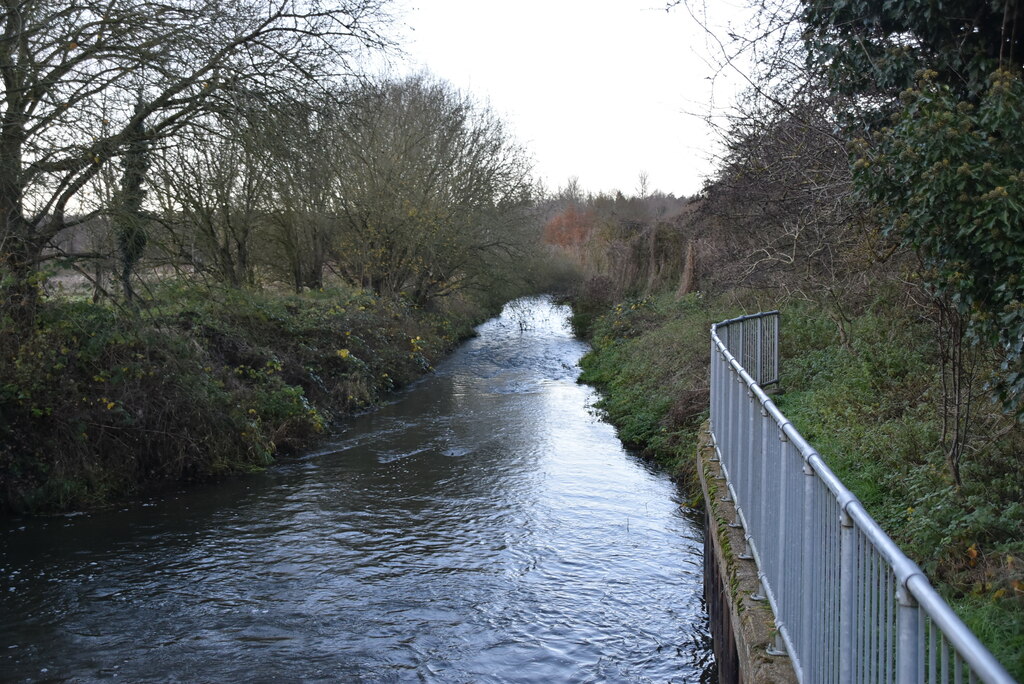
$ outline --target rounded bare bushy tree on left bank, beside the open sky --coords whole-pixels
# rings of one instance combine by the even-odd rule
[[[488,110],[417,76],[366,86],[341,132],[338,260],[353,282],[425,302],[515,248],[529,166]]]

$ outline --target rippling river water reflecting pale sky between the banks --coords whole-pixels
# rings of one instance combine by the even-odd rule
[[[265,473],[0,523],[0,680],[711,681],[697,518],[520,300]]]

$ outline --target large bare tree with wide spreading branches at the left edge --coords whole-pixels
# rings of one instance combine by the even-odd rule
[[[139,138],[250,92],[284,94],[387,43],[386,0],[5,0],[0,25],[4,304],[31,309],[48,241],[95,207],[83,188]],[[75,218],[70,218],[75,214]]]

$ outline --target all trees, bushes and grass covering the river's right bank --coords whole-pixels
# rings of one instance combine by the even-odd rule
[[[882,4],[757,3],[703,190],[569,186],[545,238],[584,380],[683,470],[711,324],[781,310],[777,403],[1024,679],[1024,5]]]

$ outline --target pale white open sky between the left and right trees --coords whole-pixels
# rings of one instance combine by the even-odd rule
[[[696,3],[691,3],[696,4]],[[709,0],[718,35],[741,31],[742,0]],[[549,190],[697,193],[714,169],[703,121],[731,101],[739,74],[719,72],[714,39],[664,0],[406,0],[403,56],[487,104]],[[712,78],[716,72],[718,76]]]

